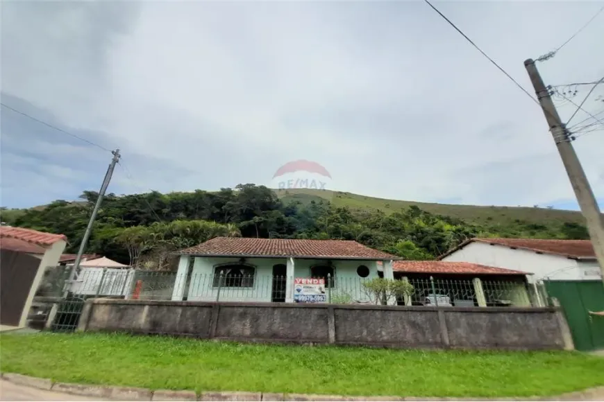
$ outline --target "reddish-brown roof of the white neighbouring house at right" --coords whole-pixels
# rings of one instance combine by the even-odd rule
[[[453,252],[462,249],[469,243],[478,241],[493,245],[503,245],[505,247],[530,250],[539,253],[556,254],[572,259],[595,258],[596,252],[592,242],[589,240],[542,240],[538,238],[471,238],[439,256],[439,259],[453,254]]]

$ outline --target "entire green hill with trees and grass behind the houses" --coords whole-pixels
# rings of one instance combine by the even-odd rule
[[[75,252],[97,196],[85,191],[81,201],[3,209],[1,219],[8,225],[65,234],[67,252]],[[138,252],[146,254],[147,262],[161,265],[158,261],[166,260],[165,253],[224,234],[355,240],[416,260],[432,259],[475,236],[589,238],[576,211],[385,200],[341,191],[275,191],[240,184],[221,191],[108,194],[86,251],[132,263],[128,261],[138,254],[130,253],[131,243],[138,239]]]

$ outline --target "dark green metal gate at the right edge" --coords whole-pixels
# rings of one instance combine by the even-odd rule
[[[589,311],[604,311],[601,281],[544,281],[548,295],[560,301],[573,335],[575,348],[590,351],[604,348],[604,317]]]

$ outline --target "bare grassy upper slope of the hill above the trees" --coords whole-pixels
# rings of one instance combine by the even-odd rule
[[[430,213],[460,218],[476,225],[513,225],[514,223],[527,222],[540,225],[555,225],[563,222],[585,224],[585,219],[578,211],[565,211],[562,209],[530,208],[530,207],[482,207],[478,205],[435,204],[433,202],[414,202],[401,200],[386,200],[367,195],[345,193],[330,190],[287,190],[280,193],[285,200],[330,200],[337,207],[353,209],[380,209],[385,213],[399,211],[411,205]]]

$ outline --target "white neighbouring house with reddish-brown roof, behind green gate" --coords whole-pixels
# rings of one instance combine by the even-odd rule
[[[532,272],[530,283],[602,279],[594,247],[588,240],[472,238],[439,259]]]

